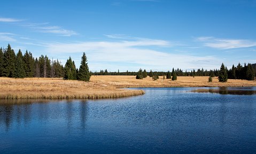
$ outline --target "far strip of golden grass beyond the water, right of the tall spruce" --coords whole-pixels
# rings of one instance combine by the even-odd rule
[[[166,77],[166,76],[165,76]],[[91,82],[112,85],[118,88],[131,87],[254,87],[256,81],[231,80],[221,83],[218,77],[213,78],[213,82],[208,82],[209,76],[177,76],[176,81],[170,79],[159,79],[153,81],[149,76],[142,80],[136,80],[135,76],[91,76]]]

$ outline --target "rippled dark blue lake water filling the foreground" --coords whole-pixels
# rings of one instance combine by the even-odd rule
[[[0,100],[0,153],[256,153],[256,95],[195,89],[143,88],[143,96],[105,100]]]

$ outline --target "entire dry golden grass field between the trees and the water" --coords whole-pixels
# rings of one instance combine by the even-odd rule
[[[149,76],[136,80],[135,76],[91,76],[90,82],[56,78],[0,78],[0,99],[97,99],[143,95],[143,90],[131,87],[252,87],[256,81],[228,80],[227,83],[208,82],[208,76],[178,76],[176,81],[153,81]]]

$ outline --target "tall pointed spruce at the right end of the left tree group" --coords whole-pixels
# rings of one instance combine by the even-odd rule
[[[81,80],[81,81],[90,80],[90,72],[89,72],[89,67],[87,63],[86,53],[83,53],[83,56],[81,59],[81,65],[79,67],[79,73],[78,73],[78,80]]]

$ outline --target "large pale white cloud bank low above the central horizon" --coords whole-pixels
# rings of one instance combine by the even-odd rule
[[[197,68],[198,65],[208,69],[214,68],[214,64],[216,64],[217,59],[213,56],[199,57],[173,54],[155,49],[166,47],[169,44],[168,41],[154,39],[89,41],[48,44],[46,51],[54,55],[63,53],[77,55],[79,53],[80,57],[85,52],[91,70],[120,69],[121,71],[137,71],[140,67],[143,67],[148,70],[167,71],[172,67],[189,69]],[[152,46],[154,49],[152,49]],[[76,62],[76,64],[79,64],[79,62]],[[100,64],[102,64],[101,67],[99,67]]]

